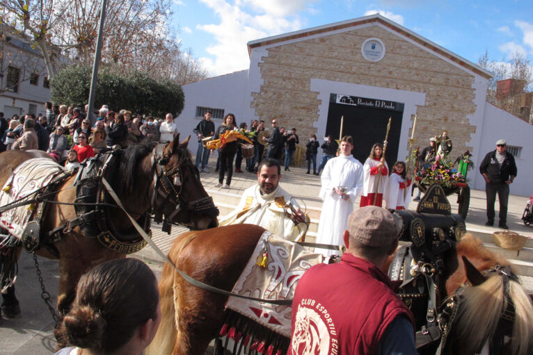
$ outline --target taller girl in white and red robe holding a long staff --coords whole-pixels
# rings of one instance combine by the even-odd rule
[[[385,158],[383,158],[383,145],[381,143],[374,143],[370,150],[370,155],[363,165],[363,170],[365,177],[359,206],[364,207],[372,205],[381,207],[383,202],[383,190],[385,190],[385,185],[387,185],[387,177],[389,173],[387,162],[385,161]],[[377,196],[376,188],[378,189]]]

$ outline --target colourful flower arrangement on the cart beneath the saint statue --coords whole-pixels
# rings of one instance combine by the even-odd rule
[[[454,168],[453,163],[440,156],[437,156],[433,163],[419,167],[417,176],[424,185],[438,183],[446,188],[451,188],[455,183],[466,182],[465,176]]]

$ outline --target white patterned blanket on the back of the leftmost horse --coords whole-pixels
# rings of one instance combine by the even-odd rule
[[[0,206],[6,206],[50,183],[58,174],[65,172],[61,165],[51,159],[34,158],[19,165],[0,191]],[[22,238],[26,225],[31,220],[35,206],[18,206],[0,213],[0,226],[10,236]]]

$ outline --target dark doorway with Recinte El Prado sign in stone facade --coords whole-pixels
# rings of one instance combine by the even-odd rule
[[[344,116],[342,135],[353,137],[353,156],[364,164],[372,145],[376,142],[383,143],[385,140],[389,117],[392,117],[385,160],[389,167],[392,167],[396,160],[404,160],[405,157],[398,157],[404,104],[347,96],[342,96],[341,101],[337,97],[341,95],[331,94],[326,135],[331,134],[333,138],[339,139],[340,120]]]

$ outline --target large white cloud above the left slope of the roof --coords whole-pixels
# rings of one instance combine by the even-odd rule
[[[250,40],[278,35],[302,28],[298,15],[306,3],[315,0],[201,0],[220,19],[218,24],[198,25],[213,35],[215,43],[206,48],[213,58],[200,58],[209,74],[220,75],[246,69],[250,65]]]

